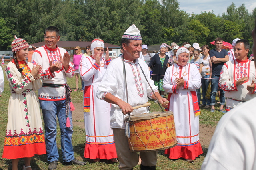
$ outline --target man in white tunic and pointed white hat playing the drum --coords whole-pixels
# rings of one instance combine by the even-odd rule
[[[98,85],[96,97],[112,103],[110,125],[114,133],[119,168],[121,170],[131,170],[138,164],[139,157],[137,153],[129,151],[128,140],[125,136],[125,117],[128,113],[130,113],[130,115],[148,113],[146,107],[136,110],[132,108],[148,102],[148,97],[154,100],[156,100],[157,97],[161,104],[167,100],[162,98],[158,93],[158,87],[155,86],[154,81],[150,79],[148,66],[140,59],[142,38],[140,36],[140,30],[138,30],[135,25],[130,26],[126,32],[124,32],[121,40],[121,48],[124,51],[123,55],[113,60],[108,66],[105,76]],[[123,71],[123,64],[125,71]],[[146,82],[142,69],[156,97]],[[127,86],[125,84],[124,74],[126,75]],[[128,97],[126,94],[128,94]],[[165,107],[167,107],[167,105]],[[141,152],[140,158],[142,160],[140,165],[141,170],[156,169],[157,151]]]

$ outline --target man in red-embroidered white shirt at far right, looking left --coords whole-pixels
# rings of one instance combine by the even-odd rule
[[[236,59],[226,62],[220,72],[219,86],[226,91],[226,111],[256,96],[256,70],[254,61],[247,58],[249,50],[250,44],[247,40],[238,40],[234,46]]]

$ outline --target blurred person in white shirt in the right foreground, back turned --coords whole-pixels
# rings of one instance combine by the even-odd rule
[[[256,55],[256,20],[252,39],[252,53]],[[256,97],[222,116],[212,136],[201,170],[256,169],[255,103]]]

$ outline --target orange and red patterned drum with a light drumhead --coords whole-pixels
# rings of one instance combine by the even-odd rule
[[[127,122],[129,117],[126,117]],[[129,148],[132,152],[164,150],[177,145],[172,112],[154,112],[130,116]]]

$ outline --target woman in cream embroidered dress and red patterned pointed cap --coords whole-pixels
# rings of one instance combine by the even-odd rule
[[[18,170],[19,159],[24,158],[23,170],[32,170],[31,157],[46,154],[38,97],[34,92],[43,84],[39,75],[42,67],[25,61],[28,55],[25,40],[15,36],[12,52],[14,59],[5,68],[11,96],[3,158],[12,159],[12,170]]]

